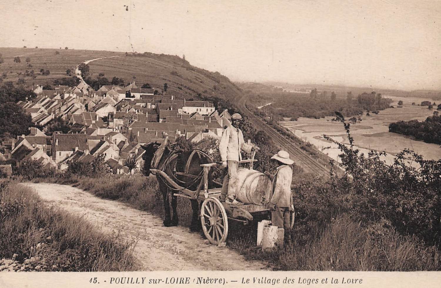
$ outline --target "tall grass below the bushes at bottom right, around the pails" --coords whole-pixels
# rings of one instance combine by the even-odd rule
[[[245,233],[250,237],[236,236],[229,241],[229,246],[247,259],[269,262],[275,270],[440,269],[439,252],[435,247],[427,247],[415,237],[400,236],[393,230],[381,236],[373,235],[372,229],[363,228],[348,215],[340,215],[306,243],[300,234],[294,234],[292,244],[264,252],[256,246],[254,232]]]

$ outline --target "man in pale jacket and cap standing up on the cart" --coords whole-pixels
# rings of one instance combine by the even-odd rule
[[[222,133],[221,142],[219,143],[219,152],[222,159],[222,168],[228,168],[225,174],[224,182],[221,190],[221,202],[238,205],[236,200],[237,195],[237,168],[239,161],[242,160],[240,151],[243,150],[250,153],[254,147],[248,145],[243,140],[243,133],[238,128],[242,121],[242,116],[239,113],[232,114],[231,125],[225,128]]]

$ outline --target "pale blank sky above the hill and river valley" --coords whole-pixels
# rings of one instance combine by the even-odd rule
[[[441,89],[441,0],[0,0],[0,7],[0,47],[185,54],[233,81]]]

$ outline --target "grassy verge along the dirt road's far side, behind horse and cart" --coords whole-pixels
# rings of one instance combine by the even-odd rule
[[[46,182],[73,183],[96,196],[120,200],[131,207],[163,216],[162,195],[154,177],[104,176],[50,178]],[[262,252],[255,244],[256,223],[230,221],[228,247],[250,260],[267,262],[274,270],[415,271],[439,270],[436,247],[414,236],[403,236],[387,221],[363,225],[339,212],[339,199],[327,194],[329,182],[299,179],[293,185],[297,218],[291,245]],[[311,204],[316,203],[316,205]],[[191,207],[178,199],[179,225],[190,224]]]

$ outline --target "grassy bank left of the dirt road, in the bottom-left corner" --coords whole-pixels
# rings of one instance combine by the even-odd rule
[[[0,182],[0,270],[135,270],[130,244],[45,206],[31,189]]]

